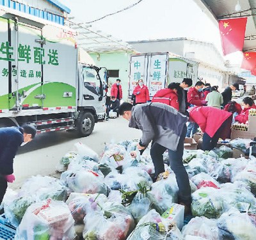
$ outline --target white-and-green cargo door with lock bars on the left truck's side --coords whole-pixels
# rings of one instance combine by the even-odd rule
[[[13,50],[10,74],[10,109],[42,107],[44,49],[40,28],[9,20],[9,43]]]

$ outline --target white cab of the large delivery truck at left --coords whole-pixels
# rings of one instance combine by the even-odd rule
[[[83,66],[82,105],[96,110],[99,119],[104,118],[105,98],[99,71],[90,66]]]

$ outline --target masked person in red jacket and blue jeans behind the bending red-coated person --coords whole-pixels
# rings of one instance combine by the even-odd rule
[[[206,104],[206,101],[203,100],[204,94],[203,94],[203,88],[204,88],[204,82],[198,81],[195,84],[195,87],[190,87],[188,91],[188,103],[190,104],[189,107],[195,107],[195,106],[203,106]],[[198,131],[198,124],[190,122],[188,124],[188,131],[186,134],[186,137],[191,137]]]

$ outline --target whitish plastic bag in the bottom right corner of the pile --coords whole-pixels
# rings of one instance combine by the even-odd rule
[[[250,213],[240,213],[236,209],[230,209],[220,216],[217,224],[221,239],[255,239],[255,216]]]

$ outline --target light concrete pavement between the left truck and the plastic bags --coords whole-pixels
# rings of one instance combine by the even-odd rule
[[[122,117],[96,123],[90,136],[79,139],[66,131],[42,133],[26,146],[20,147],[13,164],[16,181],[9,184],[9,187],[20,188],[28,177],[37,174],[58,176],[55,172],[56,165],[65,153],[76,151],[76,142],[86,144],[100,154],[105,142],[139,139],[140,136],[141,131],[129,128],[128,121]]]

